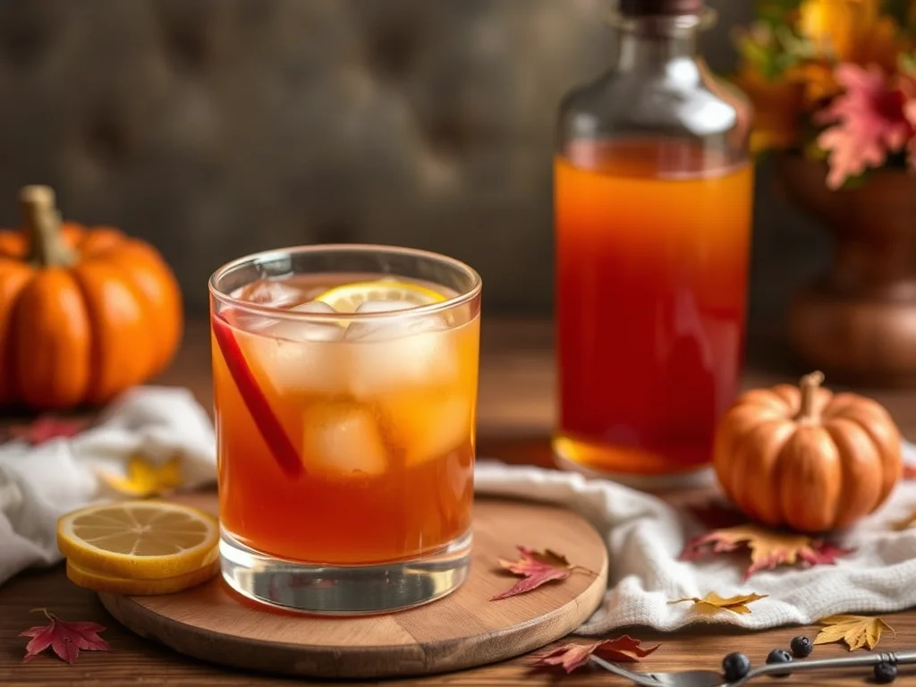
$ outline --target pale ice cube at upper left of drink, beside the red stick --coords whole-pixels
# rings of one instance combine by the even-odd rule
[[[326,303],[311,301],[292,309],[298,312],[333,312]],[[261,369],[278,393],[336,394],[346,390],[345,351],[337,343],[344,335],[340,325],[281,321],[259,333],[242,336],[245,357]]]

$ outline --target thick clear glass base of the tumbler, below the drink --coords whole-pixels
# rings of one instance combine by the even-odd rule
[[[223,579],[236,592],[288,611],[365,616],[428,604],[467,579],[472,534],[410,561],[379,565],[311,565],[268,556],[223,529]]]

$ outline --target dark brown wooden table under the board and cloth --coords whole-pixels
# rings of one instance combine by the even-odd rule
[[[551,465],[548,435],[553,422],[552,329],[544,321],[486,321],[483,329],[482,373],[479,403],[479,453],[513,463]],[[774,351],[777,353],[774,354]],[[745,384],[769,385],[784,375],[759,371],[781,365],[776,344],[758,340],[752,348]],[[190,387],[206,406],[211,405],[209,335],[203,322],[191,322],[185,344],[162,384]],[[893,413],[904,434],[916,438],[916,393],[907,390],[868,391]],[[0,551],[0,556],[3,553]],[[108,627],[104,637],[111,653],[82,652],[80,660],[68,666],[51,656],[21,663],[25,638],[17,637],[27,627],[41,624],[41,616],[29,609],[47,606],[65,619],[93,620]],[[882,649],[916,647],[916,610],[885,616],[897,630],[897,638],[882,640]],[[813,635],[812,628],[783,627],[755,634],[721,630],[689,630],[674,635],[634,629],[631,634],[658,640],[661,648],[652,655],[657,670],[714,668],[732,650],[746,651],[754,663],[761,663],[769,649],[786,647],[796,634]],[[819,657],[841,655],[837,645],[818,649]],[[903,684],[916,683],[916,671],[901,671]],[[836,675],[816,678],[791,677],[780,685],[853,685],[866,683],[863,672],[840,679]],[[905,677],[903,677],[905,676]],[[169,649],[136,637],[108,616],[95,595],[66,579],[62,567],[18,575],[0,588],[0,685],[18,684],[110,684],[110,685],[253,685],[300,683],[253,674],[225,671],[201,661],[184,658]],[[529,671],[525,657],[493,666],[421,680],[391,684],[449,685],[552,685],[557,677]],[[563,684],[625,684],[616,677],[583,671],[562,679]],[[766,681],[765,681],[766,682]]]

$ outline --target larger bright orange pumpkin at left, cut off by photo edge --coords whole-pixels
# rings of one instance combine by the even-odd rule
[[[182,307],[158,252],[111,227],[61,224],[48,187],[20,202],[23,228],[0,231],[0,406],[100,404],[168,365]]]

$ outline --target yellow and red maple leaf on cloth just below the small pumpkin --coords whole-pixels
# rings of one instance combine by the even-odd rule
[[[739,525],[734,528],[715,529],[687,542],[681,553],[682,561],[695,561],[707,553],[726,553],[747,548],[750,566],[742,577],[746,581],[760,570],[772,570],[778,565],[833,565],[840,556],[852,549],[815,540],[803,534],[778,532],[758,525]]]

